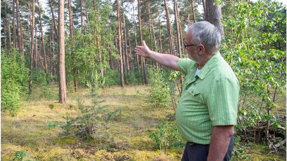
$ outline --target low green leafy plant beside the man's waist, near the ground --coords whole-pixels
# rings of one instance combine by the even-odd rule
[[[185,140],[180,136],[175,124],[168,124],[167,121],[160,123],[157,127],[158,130],[155,134],[151,134],[149,137],[155,142],[155,145],[160,150],[167,150],[168,147],[184,147]]]

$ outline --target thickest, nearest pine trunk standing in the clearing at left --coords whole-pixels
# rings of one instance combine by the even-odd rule
[[[66,73],[65,73],[65,28],[64,28],[64,0],[59,0],[59,103],[67,105]]]

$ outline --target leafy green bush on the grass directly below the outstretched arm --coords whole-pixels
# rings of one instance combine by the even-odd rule
[[[145,102],[151,108],[168,108],[170,104],[170,94],[163,79],[163,72],[160,68],[151,66],[148,68],[150,88],[146,91],[150,93],[150,96],[146,98]]]

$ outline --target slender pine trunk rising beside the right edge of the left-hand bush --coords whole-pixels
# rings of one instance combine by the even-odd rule
[[[30,8],[30,4],[29,4]],[[30,9],[29,9],[30,10]],[[30,11],[29,11],[30,12]],[[31,27],[31,49],[30,49],[30,81],[29,94],[32,94],[32,69],[33,69],[33,51],[34,51],[34,26],[35,26],[35,1],[32,0],[32,27]],[[36,37],[37,39],[37,37]]]

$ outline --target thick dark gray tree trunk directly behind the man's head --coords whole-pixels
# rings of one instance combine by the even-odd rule
[[[214,5],[215,0],[206,0],[206,12],[208,15],[208,20],[210,23],[212,23],[214,26],[218,27],[222,39],[224,39],[224,29],[222,24],[222,13],[221,8],[219,5]]]

